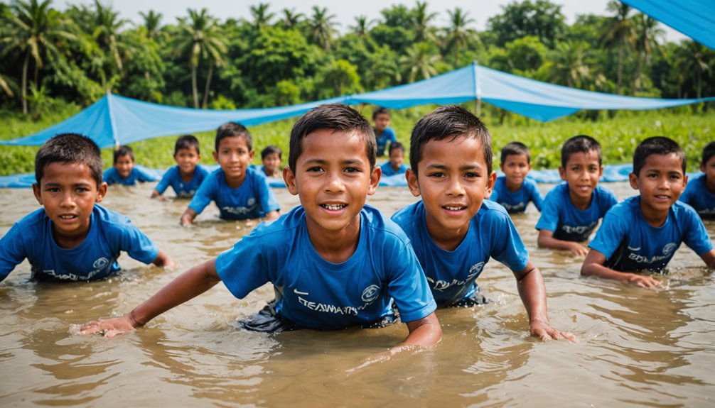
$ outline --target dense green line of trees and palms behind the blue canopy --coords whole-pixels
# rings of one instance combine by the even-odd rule
[[[610,15],[566,24],[548,0],[503,7],[476,31],[460,8],[447,26],[417,1],[377,21],[312,7],[250,7],[225,20],[189,9],[152,10],[142,24],[111,6],[59,11],[51,0],[0,3],[0,108],[39,116],[53,103],[87,105],[112,92],[195,108],[282,106],[419,81],[478,61],[501,71],[591,91],[660,98],[715,95],[715,52],[664,42],[656,21],[618,1]]]

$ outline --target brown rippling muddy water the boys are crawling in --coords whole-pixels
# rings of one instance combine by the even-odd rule
[[[551,185],[541,185],[546,191]],[[618,198],[626,183],[610,183]],[[644,290],[579,277],[581,260],[536,248],[538,213],[514,221],[541,267],[554,327],[578,344],[528,337],[511,272],[491,261],[479,278],[494,302],[438,310],[443,341],[350,371],[407,330],[247,332],[235,320],[272,298],[270,285],[237,300],[217,285],[112,340],[77,325],[121,315],[182,270],[230,248],[250,231],[217,219],[179,227],[186,201],[149,200],[152,185],[112,188],[104,205],[130,215],[177,262],[176,270],[120,258],[111,280],[29,282],[24,262],[0,283],[0,407],[712,407],[715,399],[715,283],[684,245],[664,288]],[[297,205],[275,190],[282,208]],[[392,214],[415,198],[379,188],[368,203]],[[37,208],[30,190],[0,190],[0,234]],[[707,225],[715,236],[715,223]],[[290,243],[286,243],[290,245]]]

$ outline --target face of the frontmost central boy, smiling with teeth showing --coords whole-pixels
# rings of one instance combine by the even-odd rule
[[[365,141],[344,131],[319,129],[301,143],[295,169],[284,168],[283,178],[290,193],[300,198],[308,231],[356,233],[365,200],[380,181],[380,169],[370,169]]]

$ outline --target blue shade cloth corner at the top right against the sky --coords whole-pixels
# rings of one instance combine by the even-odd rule
[[[621,0],[715,50],[714,0]]]

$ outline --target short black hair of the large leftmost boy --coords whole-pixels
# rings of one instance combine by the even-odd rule
[[[42,145],[35,155],[35,180],[40,184],[51,163],[83,163],[92,172],[97,188],[102,184],[102,151],[97,143],[78,133],[61,133]]]

